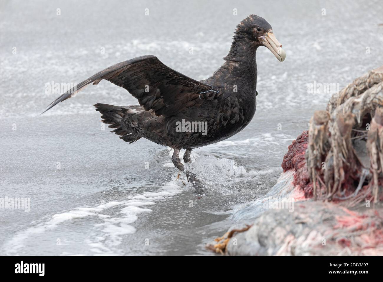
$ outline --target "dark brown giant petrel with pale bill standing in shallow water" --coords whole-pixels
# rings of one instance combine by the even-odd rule
[[[249,124],[257,105],[255,52],[259,46],[266,46],[281,62],[286,58],[271,25],[260,16],[250,15],[237,26],[224,64],[208,79],[196,81],[165,66],[155,56],[141,56],[91,76],[46,110],[88,84],[97,85],[106,79],[128,90],[140,105],[95,104],[102,121],[126,142],[143,137],[173,148],[172,162],[184,170],[180,149],[186,149],[185,163],[191,162],[193,148],[227,139]],[[193,173],[187,175],[196,180]]]

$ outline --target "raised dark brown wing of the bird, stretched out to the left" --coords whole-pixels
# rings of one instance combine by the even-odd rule
[[[198,107],[221,94],[218,87],[191,79],[165,66],[157,57],[147,55],[100,71],[62,94],[44,112],[69,99],[88,84],[97,85],[103,79],[128,90],[146,111],[153,110],[155,115],[164,117]]]

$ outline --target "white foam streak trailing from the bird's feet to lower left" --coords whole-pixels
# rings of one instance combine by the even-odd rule
[[[9,255],[18,254],[18,251],[25,246],[26,241],[31,236],[50,231],[66,221],[78,221],[88,217],[95,217],[99,220],[99,223],[95,224],[95,228],[101,231],[103,235],[95,237],[95,242],[90,239],[87,240],[90,251],[95,254],[116,254],[111,251],[110,246],[118,246],[123,235],[136,232],[136,228],[131,224],[137,220],[139,214],[152,212],[151,209],[146,207],[156,204],[156,201],[163,201],[182,193],[183,190],[174,180],[157,188],[155,192],[128,195],[127,199],[123,201],[110,201],[95,207],[74,208],[70,211],[54,214],[50,219],[43,218],[37,226],[21,231],[6,242],[4,244],[4,246],[7,246],[6,252]],[[114,211],[114,209],[118,209],[118,211]],[[113,216],[105,213],[111,213]],[[116,216],[116,214],[120,216]]]

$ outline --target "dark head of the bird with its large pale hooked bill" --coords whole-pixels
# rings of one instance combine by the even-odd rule
[[[242,20],[235,33],[237,40],[245,40],[256,47],[266,46],[280,62],[286,58],[282,44],[274,36],[273,28],[260,16],[250,15]]]

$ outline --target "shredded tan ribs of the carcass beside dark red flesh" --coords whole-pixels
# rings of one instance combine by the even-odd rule
[[[314,199],[379,200],[379,179],[383,175],[383,66],[355,79],[334,95],[326,111],[316,111],[310,120],[307,168]],[[371,117],[373,119],[371,120]],[[356,152],[356,141],[367,141],[370,167]],[[322,168],[322,162],[325,168]],[[365,163],[365,162],[364,162]],[[359,185],[350,183],[359,182]],[[362,189],[363,182],[368,185]],[[351,187],[352,186],[352,187]],[[319,191],[318,191],[319,187]],[[360,195],[364,197],[360,197]]]

